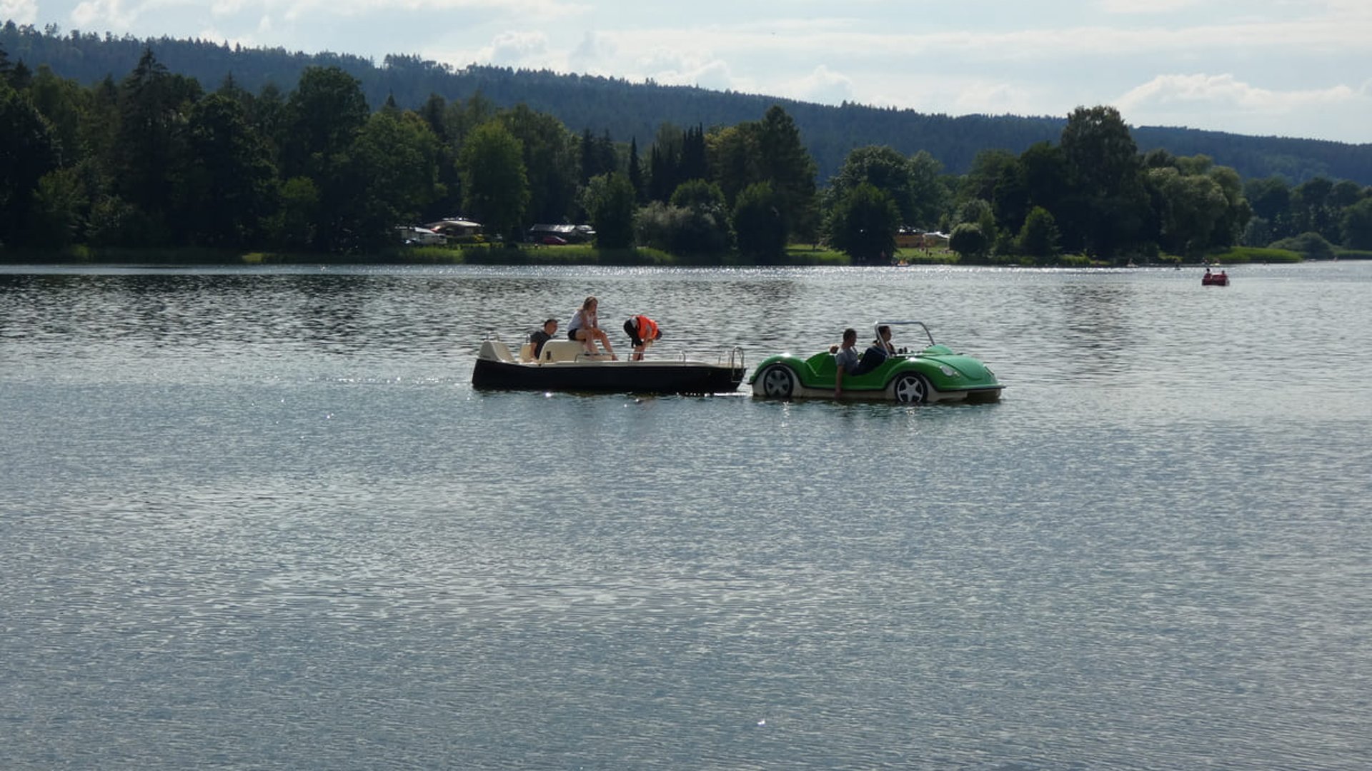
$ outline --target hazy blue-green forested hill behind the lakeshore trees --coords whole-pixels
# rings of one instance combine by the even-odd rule
[[[62,34],[55,27],[37,30],[12,22],[0,27],[0,48],[10,62],[22,60],[36,70],[47,64],[62,77],[93,84],[106,75],[117,81],[133,70],[144,47],[173,73],[196,78],[206,89],[218,88],[225,75],[247,91],[272,84],[289,92],[309,66],[336,66],[362,82],[373,108],[394,96],[401,107],[414,108],[429,95],[449,102],[477,91],[498,106],[528,104],[556,115],[572,132],[609,133],[619,141],[652,143],[661,123],[676,126],[735,125],[761,118],[781,104],[801,130],[827,180],[855,147],[890,145],[906,155],[921,150],[943,162],[949,173],[963,173],[982,150],[1022,152],[1036,141],[1056,143],[1066,123],[1061,118],[1014,115],[932,115],[844,104],[829,107],[735,92],[693,86],[632,84],[617,78],[564,75],[550,71],[504,67],[453,69],[416,56],[387,56],[380,64],[347,54],[300,54],[283,48],[239,48],[199,40],[104,37],[95,33]],[[1126,117],[1128,118],[1128,117]],[[1372,185],[1372,144],[1321,140],[1251,137],[1222,132],[1136,126],[1140,151],[1163,148],[1173,155],[1209,155],[1232,166],[1244,178],[1281,176],[1297,184],[1323,176]]]

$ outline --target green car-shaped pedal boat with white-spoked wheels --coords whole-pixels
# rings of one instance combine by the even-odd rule
[[[996,402],[1004,386],[996,380],[996,375],[981,361],[955,354],[948,346],[934,343],[933,335],[922,321],[878,321],[874,325],[904,327],[907,329],[918,327],[929,339],[929,346],[907,353],[884,355],[879,350],[868,348],[863,354],[863,368],[868,368],[862,375],[844,375],[844,390],[840,398],[845,399],[885,399],[906,403],[929,402]],[[878,332],[879,339],[879,332]],[[879,364],[874,366],[873,357]],[[748,380],[753,387],[755,396],[770,396],[775,399],[789,399],[797,396],[834,398],[834,376],[837,365],[834,355],[827,350],[809,358],[792,354],[779,354],[763,359]]]

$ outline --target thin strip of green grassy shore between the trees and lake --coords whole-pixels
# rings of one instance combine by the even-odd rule
[[[1372,259],[1372,251],[1336,250],[1339,259]],[[1159,255],[1151,259],[1120,258],[1100,261],[1087,255],[1059,255],[1052,261],[1036,261],[1018,255],[967,261],[949,250],[904,250],[896,259],[906,265],[996,265],[1024,268],[1120,268],[1144,265],[1244,265],[1302,262],[1301,254],[1279,248],[1232,247],[1205,255],[1183,258]],[[741,258],[738,254],[682,257],[654,248],[601,250],[593,246],[397,246],[372,254],[276,252],[200,248],[95,248],[67,247],[59,251],[0,250],[0,263],[58,263],[58,265],[613,265],[613,266],[759,266],[763,263]],[[842,252],[809,244],[792,244],[782,262],[786,266],[849,266],[852,259]]]

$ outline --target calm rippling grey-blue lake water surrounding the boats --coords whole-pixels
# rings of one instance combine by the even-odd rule
[[[1368,768],[1372,263],[1231,274],[0,266],[0,767]],[[591,292],[1008,387],[471,387]]]

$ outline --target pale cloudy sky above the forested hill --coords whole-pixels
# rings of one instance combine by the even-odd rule
[[[0,19],[948,115],[1372,143],[1372,0],[0,0]]]

